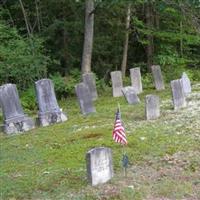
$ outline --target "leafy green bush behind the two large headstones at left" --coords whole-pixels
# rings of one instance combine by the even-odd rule
[[[15,28],[0,23],[0,84],[28,88],[46,74],[48,57],[43,55],[41,39],[23,38]]]

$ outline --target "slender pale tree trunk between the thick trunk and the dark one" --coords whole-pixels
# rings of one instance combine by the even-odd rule
[[[122,64],[121,64],[121,71],[122,71],[123,77],[125,77],[126,75],[126,67],[127,67],[130,18],[131,18],[131,3],[128,4],[127,12],[126,12],[126,34],[125,34],[123,58],[122,58]]]

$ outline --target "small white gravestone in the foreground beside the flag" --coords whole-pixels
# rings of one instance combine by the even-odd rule
[[[110,148],[93,148],[86,154],[87,177],[92,186],[106,183],[113,177]]]

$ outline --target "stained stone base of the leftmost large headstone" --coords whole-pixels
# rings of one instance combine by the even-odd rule
[[[22,133],[35,128],[35,122],[26,115],[4,121],[3,130],[6,134]]]

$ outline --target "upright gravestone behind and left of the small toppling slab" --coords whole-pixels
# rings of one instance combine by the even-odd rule
[[[111,72],[111,80],[112,80],[113,97],[122,96],[123,82],[122,82],[121,71]]]

